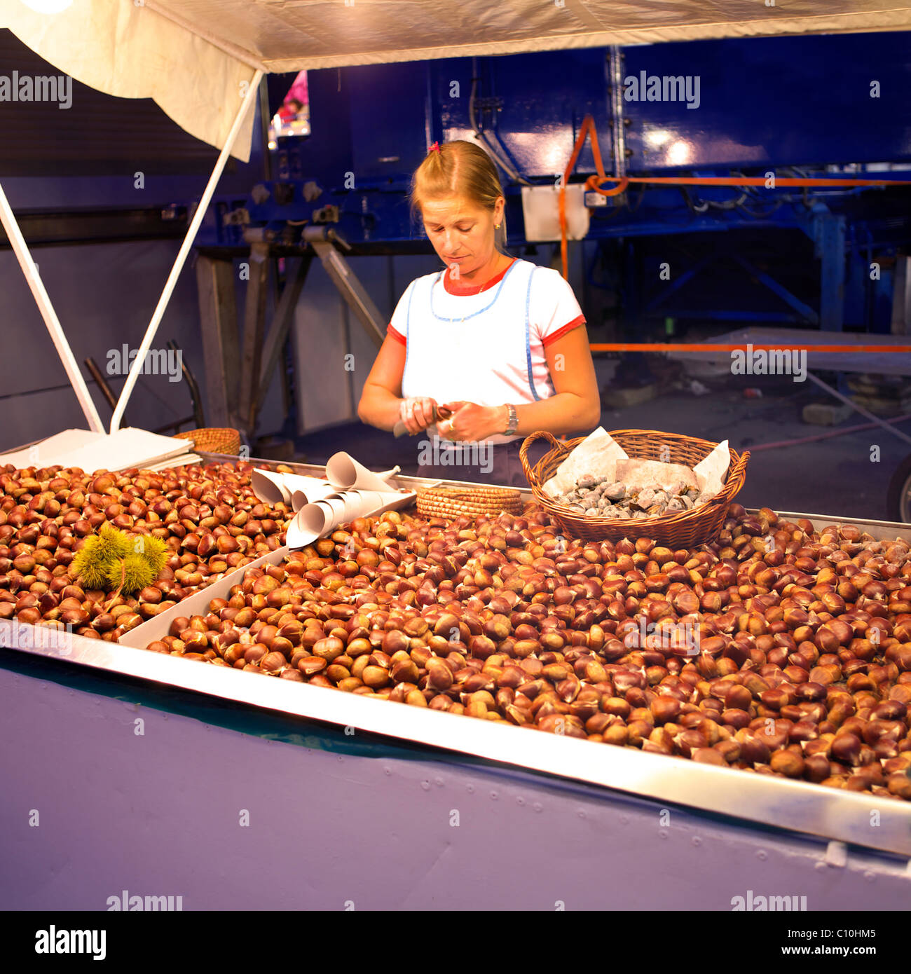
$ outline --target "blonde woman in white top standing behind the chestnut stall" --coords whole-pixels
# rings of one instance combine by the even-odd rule
[[[524,485],[525,436],[598,423],[585,318],[556,271],[503,251],[506,201],[479,146],[432,146],[411,205],[445,269],[401,296],[358,415],[382,430],[401,421],[412,435],[431,434],[422,476]]]

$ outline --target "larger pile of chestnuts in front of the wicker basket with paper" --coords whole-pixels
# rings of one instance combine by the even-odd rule
[[[695,550],[568,539],[538,506],[358,518],[148,649],[911,800],[909,545],[768,508]]]

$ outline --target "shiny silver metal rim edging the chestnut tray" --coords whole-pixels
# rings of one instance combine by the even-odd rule
[[[236,457],[216,454],[207,454],[205,459],[237,461]],[[251,462],[273,463],[255,459]],[[287,466],[302,472],[323,470],[315,465]],[[397,479],[402,486],[438,482],[420,477]],[[444,483],[458,484],[457,481]],[[530,491],[527,493],[530,496]],[[787,516],[807,517],[820,526],[856,524],[877,539],[911,540],[911,528],[907,525],[839,519],[825,514],[787,513]],[[46,632],[51,634],[45,635],[38,627],[16,620],[2,620],[0,647],[291,716],[351,726],[643,798],[911,856],[911,803],[884,801],[873,795],[823,788],[806,781],[738,773],[736,769],[643,754],[633,748],[593,745],[585,740],[494,725],[308,684],[243,678],[219,667],[193,666],[184,659],[147,653],[123,644]]]

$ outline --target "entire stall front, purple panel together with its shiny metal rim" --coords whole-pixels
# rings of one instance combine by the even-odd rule
[[[0,621],[5,909],[911,905],[906,802],[192,666],[148,624]]]

